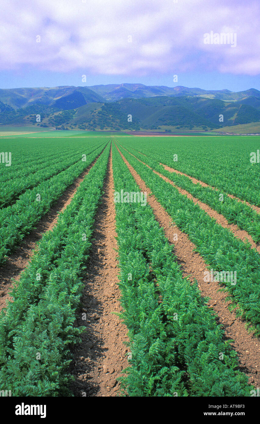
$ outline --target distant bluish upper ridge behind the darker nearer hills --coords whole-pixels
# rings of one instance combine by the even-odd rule
[[[255,98],[256,102],[260,102],[260,91],[256,89],[232,92],[226,89],[203,90],[200,88],[188,88],[183,86],[146,86],[144,84],[0,89],[0,101],[15,110],[32,104],[57,106],[61,110],[68,110],[75,109],[88,103],[105,103],[126,98],[141,99],[162,96],[174,98],[188,96],[192,98],[218,99],[230,102],[241,100],[246,102],[247,98]],[[250,106],[254,106],[254,104]]]

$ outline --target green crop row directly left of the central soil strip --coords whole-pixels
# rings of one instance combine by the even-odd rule
[[[102,195],[110,145],[77,189],[53,231],[43,235],[0,315],[0,390],[12,396],[68,396],[73,326]],[[82,327],[83,328],[83,327]]]

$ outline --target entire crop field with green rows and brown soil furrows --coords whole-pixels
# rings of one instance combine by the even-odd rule
[[[256,396],[259,149],[2,131],[0,391]]]

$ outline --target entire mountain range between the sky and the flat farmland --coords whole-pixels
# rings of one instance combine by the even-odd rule
[[[36,122],[41,115],[41,123]],[[220,115],[223,121],[220,122]],[[260,91],[108,84],[0,89],[0,125],[213,129],[260,121]]]

